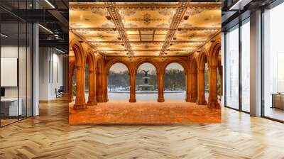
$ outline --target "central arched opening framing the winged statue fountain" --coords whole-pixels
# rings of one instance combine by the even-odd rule
[[[158,99],[157,70],[150,62],[138,66],[136,73],[136,100],[156,101]]]

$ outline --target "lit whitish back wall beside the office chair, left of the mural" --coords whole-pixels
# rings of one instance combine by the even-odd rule
[[[39,50],[39,100],[55,99],[62,86],[62,55],[54,48]]]

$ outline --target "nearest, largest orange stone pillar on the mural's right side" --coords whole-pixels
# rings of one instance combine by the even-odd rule
[[[217,66],[209,66],[209,98],[208,108],[220,108],[217,99]]]

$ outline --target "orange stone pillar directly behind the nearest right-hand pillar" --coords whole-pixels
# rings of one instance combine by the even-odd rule
[[[205,100],[205,70],[198,70],[197,83],[197,102],[198,105],[206,105]]]

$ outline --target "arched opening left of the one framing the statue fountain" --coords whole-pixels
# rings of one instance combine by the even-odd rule
[[[129,70],[123,63],[115,63],[109,68],[108,82],[107,82],[108,98],[112,100],[129,99],[130,82]]]

